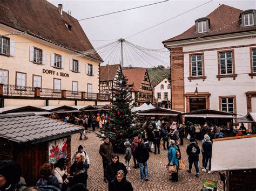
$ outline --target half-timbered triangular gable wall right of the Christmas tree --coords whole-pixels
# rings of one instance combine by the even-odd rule
[[[153,101],[153,91],[149,79],[149,74],[147,72],[145,72],[142,83],[140,84],[138,94],[139,105],[142,105],[145,102]]]

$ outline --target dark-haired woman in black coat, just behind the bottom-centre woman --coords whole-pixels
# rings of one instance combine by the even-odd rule
[[[106,168],[106,178],[107,181],[109,181],[109,187],[111,185],[111,181],[114,180],[119,170],[123,170],[124,175],[126,176],[127,169],[125,165],[122,162],[119,162],[119,156],[117,154],[113,154],[112,161],[107,165]]]

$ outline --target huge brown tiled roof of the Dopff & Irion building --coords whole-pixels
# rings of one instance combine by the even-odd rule
[[[28,34],[77,52],[93,49],[77,19],[64,11],[61,16],[58,8],[45,0],[1,0],[0,23],[19,31],[29,30]],[[72,26],[71,31],[66,24]],[[98,53],[89,56],[102,61]]]

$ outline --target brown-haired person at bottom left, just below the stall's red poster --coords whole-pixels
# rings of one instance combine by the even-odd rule
[[[58,179],[53,175],[53,164],[45,163],[40,167],[41,178],[36,182],[39,189],[60,190]]]

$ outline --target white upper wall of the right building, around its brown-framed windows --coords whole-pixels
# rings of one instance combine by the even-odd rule
[[[208,91],[210,96],[210,109],[219,110],[219,96],[235,95],[237,100],[237,114],[246,115],[246,91],[256,90],[256,76],[251,79],[248,74],[251,73],[250,69],[250,47],[237,47],[230,48],[228,46],[239,46],[252,44],[256,41],[256,38],[252,39],[235,39],[235,40],[222,40],[215,41],[215,43],[201,43],[196,45],[186,45],[183,47],[183,51],[194,51],[198,49],[209,48],[222,48],[234,49],[235,59],[235,74],[237,77],[233,80],[233,77],[221,78],[220,81],[216,77],[218,75],[218,56],[217,50],[204,52],[205,63],[205,81],[187,79],[189,76],[189,54],[184,54],[184,77],[185,77],[185,93],[194,92],[196,87],[198,92]],[[255,46],[256,47],[256,46]],[[225,50],[219,49],[219,50]],[[200,53],[200,52],[198,52]]]

